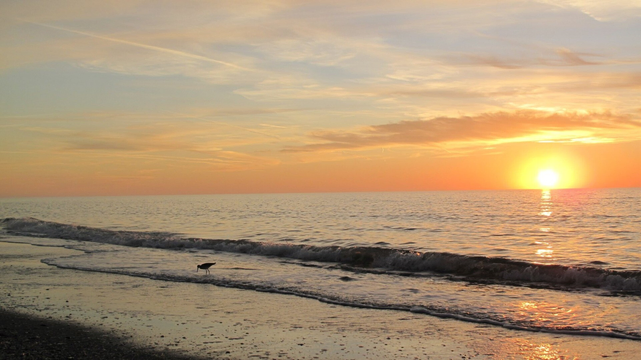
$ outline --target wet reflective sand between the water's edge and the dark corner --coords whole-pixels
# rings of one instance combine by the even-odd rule
[[[637,341],[514,331],[289,295],[59,269],[40,262],[75,253],[0,242],[0,308],[10,316],[32,319],[25,321],[24,329],[18,326],[14,335],[1,337],[3,346],[37,348],[40,356],[32,358],[43,358],[43,351],[51,350],[36,346],[42,342],[27,333],[42,319],[52,320],[46,327],[53,329],[91,329],[98,335],[86,341],[88,347],[116,344],[109,346],[159,357],[633,359],[641,353]],[[16,335],[21,331],[24,334]],[[55,341],[64,345],[72,340],[65,335]],[[63,345],[60,348],[67,346]],[[44,358],[83,358],[64,351],[56,356]]]

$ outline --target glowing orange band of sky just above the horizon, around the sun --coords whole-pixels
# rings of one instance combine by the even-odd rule
[[[641,166],[623,145],[514,144],[500,153],[461,157],[346,159],[281,164],[266,169],[161,169],[149,176],[107,174],[99,166],[33,169],[3,177],[5,196],[154,195],[271,192],[421,191],[538,188],[540,169],[552,168],[558,187],[639,187]],[[122,171],[134,164],[122,161]],[[78,170],[81,169],[81,170]],[[6,189],[11,191],[6,191]]]

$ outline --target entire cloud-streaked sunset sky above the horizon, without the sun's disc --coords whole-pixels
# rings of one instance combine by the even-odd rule
[[[0,197],[641,187],[641,0],[3,0]]]

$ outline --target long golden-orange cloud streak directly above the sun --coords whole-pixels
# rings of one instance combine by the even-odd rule
[[[476,116],[437,117],[374,125],[356,131],[321,130],[310,137],[322,142],[291,146],[284,152],[365,150],[391,146],[437,146],[451,143],[487,145],[521,141],[590,138],[611,130],[641,131],[641,121],[602,113],[548,113],[522,110]],[[596,134],[591,136],[590,134]]]

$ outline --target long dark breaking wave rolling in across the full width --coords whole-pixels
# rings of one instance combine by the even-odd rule
[[[1,223],[10,234],[22,236],[175,250],[210,249],[336,263],[343,269],[352,271],[395,273],[405,276],[420,276],[424,272],[432,272],[476,282],[525,283],[563,290],[589,287],[614,293],[641,295],[641,271],[542,265],[506,258],[444,252],[421,253],[380,247],[311,246],[184,238],[168,232],[116,231],[34,218],[6,218]]]

